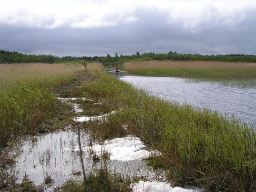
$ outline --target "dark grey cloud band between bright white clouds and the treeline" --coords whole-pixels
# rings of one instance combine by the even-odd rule
[[[95,56],[155,52],[200,54],[255,54],[256,15],[246,12],[243,22],[227,25],[212,21],[198,24],[198,30],[170,23],[168,13],[138,9],[136,22],[119,22],[98,28],[27,28],[0,23],[0,49],[56,56]],[[48,21],[51,23],[51,21]]]

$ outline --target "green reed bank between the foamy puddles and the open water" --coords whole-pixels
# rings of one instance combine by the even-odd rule
[[[113,127],[127,125],[127,134],[159,150],[162,155],[156,161],[169,170],[174,183],[206,190],[255,190],[256,137],[238,119],[156,98],[108,75],[80,89],[115,103],[117,111],[121,108],[108,117],[115,119]]]

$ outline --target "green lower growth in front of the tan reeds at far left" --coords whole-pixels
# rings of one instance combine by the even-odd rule
[[[35,126],[55,111],[56,96],[49,88],[50,85],[52,85],[50,82],[17,82],[2,91],[0,97],[1,146],[5,146],[12,135],[27,129],[25,126]]]

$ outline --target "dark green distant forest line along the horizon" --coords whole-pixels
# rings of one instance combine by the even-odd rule
[[[62,63],[70,61],[99,61],[105,66],[120,65],[126,61],[151,61],[151,60],[173,60],[173,61],[228,61],[256,63],[256,55],[230,54],[230,55],[200,55],[200,54],[179,54],[170,51],[169,53],[143,53],[137,52],[134,55],[110,56],[64,56],[53,55],[30,55],[16,51],[0,50],[0,63]]]

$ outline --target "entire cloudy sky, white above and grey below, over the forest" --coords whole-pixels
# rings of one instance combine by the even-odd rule
[[[256,55],[256,0],[0,0],[0,49]]]

